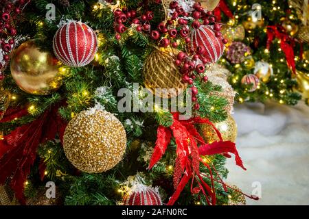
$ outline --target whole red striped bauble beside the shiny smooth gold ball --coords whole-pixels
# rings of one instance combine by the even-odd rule
[[[54,36],[53,49],[63,64],[82,67],[89,64],[98,51],[95,32],[88,25],[70,21],[62,25]]]

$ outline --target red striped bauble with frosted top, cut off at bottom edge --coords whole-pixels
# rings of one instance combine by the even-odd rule
[[[124,205],[162,205],[159,192],[142,184],[132,188],[124,196],[122,203]]]

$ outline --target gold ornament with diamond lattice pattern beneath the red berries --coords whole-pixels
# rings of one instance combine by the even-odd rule
[[[187,88],[181,79],[179,67],[175,64],[178,53],[178,50],[173,49],[156,49],[146,58],[144,84],[152,94],[172,98]]]

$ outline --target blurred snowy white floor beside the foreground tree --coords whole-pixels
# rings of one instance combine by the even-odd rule
[[[247,205],[309,205],[309,107],[236,105],[233,117],[247,171],[229,159],[227,182],[247,194],[260,183],[262,198]]]

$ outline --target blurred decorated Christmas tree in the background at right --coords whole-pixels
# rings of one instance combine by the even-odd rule
[[[225,59],[236,101],[308,104],[308,2],[221,1]],[[222,7],[224,5],[225,7]]]

